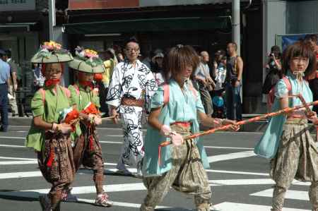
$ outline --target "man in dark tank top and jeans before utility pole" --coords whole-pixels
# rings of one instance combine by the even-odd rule
[[[237,55],[237,44],[230,42],[227,46],[228,59],[226,61],[226,115],[228,119],[242,120],[242,73],[243,60]]]

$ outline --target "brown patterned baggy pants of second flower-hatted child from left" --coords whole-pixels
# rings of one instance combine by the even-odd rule
[[[92,126],[93,127],[93,126]],[[93,169],[93,181],[95,183],[96,193],[104,192],[102,186],[104,181],[104,160],[102,159],[102,147],[98,141],[98,134],[95,128],[88,128],[81,123],[82,135],[75,140],[73,146],[73,159],[78,171],[81,164],[84,167]],[[93,140],[90,141],[90,134],[93,134]]]

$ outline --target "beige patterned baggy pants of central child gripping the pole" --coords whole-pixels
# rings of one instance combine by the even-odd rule
[[[172,130],[182,135],[190,135],[189,130],[181,131],[179,126]],[[141,211],[153,211],[172,186],[175,190],[194,195],[194,203],[198,211],[210,210],[211,187],[208,176],[201,163],[199,150],[194,140],[187,140],[179,147],[172,147],[172,169],[162,176],[143,177],[148,189]]]

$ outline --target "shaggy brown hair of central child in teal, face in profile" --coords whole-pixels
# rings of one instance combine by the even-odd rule
[[[170,78],[176,78],[187,66],[192,66],[193,71],[199,66],[199,55],[193,47],[189,45],[183,46],[178,44],[176,47],[172,47],[165,56],[164,70],[165,80]]]

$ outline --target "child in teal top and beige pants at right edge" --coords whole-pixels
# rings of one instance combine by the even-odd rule
[[[303,77],[315,71],[315,67],[314,53],[304,42],[295,42],[285,49],[283,52],[285,76],[281,77],[275,88],[274,111],[302,104],[296,97],[299,94],[306,102],[312,102],[312,91]],[[288,97],[290,95],[294,97]],[[310,202],[312,210],[318,211],[318,152],[307,126],[307,119],[317,121],[316,115],[310,110],[301,110],[293,111],[286,116],[273,117],[261,138],[263,142],[267,140],[273,143],[277,140],[270,172],[276,182],[273,189],[272,211],[283,209],[285,193],[293,179],[312,183],[309,191]]]

